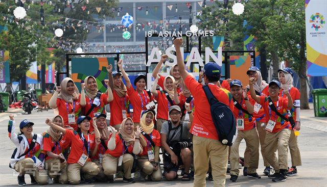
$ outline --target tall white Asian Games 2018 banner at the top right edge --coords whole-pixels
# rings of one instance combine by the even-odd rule
[[[327,76],[327,1],[306,0],[307,68],[309,76]]]

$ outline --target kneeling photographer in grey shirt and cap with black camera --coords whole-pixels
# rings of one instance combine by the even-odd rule
[[[184,165],[185,172],[182,180],[188,181],[189,170],[192,163],[191,140],[188,133],[193,121],[190,104],[185,103],[185,109],[189,113],[190,122],[180,121],[181,110],[174,105],[169,109],[170,120],[162,124],[161,145],[164,149],[164,170],[167,180],[174,180],[180,165]]]

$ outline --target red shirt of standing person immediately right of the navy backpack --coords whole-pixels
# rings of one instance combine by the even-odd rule
[[[252,105],[254,105],[255,100],[253,100],[250,95],[248,95],[248,99],[249,99],[249,102]],[[238,102],[238,101],[236,101],[236,102]],[[247,111],[245,100],[244,100],[243,96],[242,96],[241,103],[240,102],[238,102],[238,103],[242,106],[242,109]],[[242,110],[239,110],[238,108],[236,108],[235,105],[234,105],[234,110],[232,110],[232,112],[233,112],[235,119],[243,118],[243,120],[244,120],[244,129],[243,130],[244,131],[255,128],[255,118],[254,117],[251,117],[248,114],[244,113]]]

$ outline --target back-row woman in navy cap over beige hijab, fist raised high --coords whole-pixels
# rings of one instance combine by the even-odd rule
[[[116,130],[120,129],[124,119],[129,117],[127,114],[129,107],[129,97],[126,86],[123,83],[122,73],[112,72],[112,65],[107,66],[109,85],[112,90],[113,100],[110,102],[110,126]]]

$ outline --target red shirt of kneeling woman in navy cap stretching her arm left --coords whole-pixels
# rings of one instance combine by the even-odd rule
[[[87,155],[87,149],[84,147],[84,142],[80,138],[77,131],[66,129],[65,136],[67,139],[72,139],[71,152],[68,155],[67,164],[75,164],[78,162],[78,160],[80,159],[83,153]],[[92,150],[95,148],[96,145],[95,135],[88,134],[83,136],[85,140],[89,142],[89,156],[86,162],[90,162],[91,161],[90,156],[92,154]],[[87,136],[89,137],[89,140]]]

